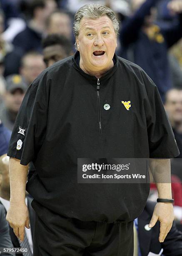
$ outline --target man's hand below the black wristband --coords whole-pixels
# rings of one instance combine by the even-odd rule
[[[172,203],[157,203],[154,208],[152,219],[149,227],[155,226],[157,220],[160,221],[160,236],[159,241],[163,243],[169,233],[174,220],[174,211]]]

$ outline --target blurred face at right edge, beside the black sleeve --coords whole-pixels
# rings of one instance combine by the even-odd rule
[[[170,90],[167,93],[165,110],[171,122],[182,122],[182,90]]]

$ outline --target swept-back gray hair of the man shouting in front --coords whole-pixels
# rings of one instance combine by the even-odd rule
[[[83,17],[87,18],[100,18],[102,16],[107,15],[107,17],[110,18],[112,21],[116,36],[119,32],[119,22],[116,18],[115,13],[108,7],[99,5],[99,4],[88,4],[83,5],[77,12],[75,13],[75,19],[73,23],[73,33],[75,35],[75,38],[79,35],[80,31],[80,21]],[[77,49],[77,43],[75,42],[75,47]]]

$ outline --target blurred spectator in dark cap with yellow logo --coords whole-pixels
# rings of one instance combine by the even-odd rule
[[[0,119],[11,131],[26,90],[27,85],[20,75],[7,77],[4,102],[0,107]]]

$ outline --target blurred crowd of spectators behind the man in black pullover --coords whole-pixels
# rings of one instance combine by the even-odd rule
[[[182,230],[182,0],[0,0],[0,204],[7,210],[6,153],[26,90],[46,67],[74,54],[74,14],[87,3],[115,11],[117,55],[142,67],[160,92],[180,149],[171,163],[175,223]],[[150,200],[156,198],[151,184]],[[31,233],[27,240],[32,250]]]

